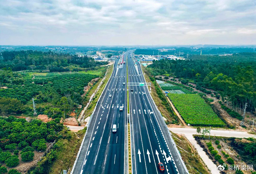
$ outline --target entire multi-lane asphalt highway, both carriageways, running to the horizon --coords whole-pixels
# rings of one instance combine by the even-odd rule
[[[131,125],[131,167],[134,174],[160,173],[160,162],[168,174],[187,173],[148,87],[138,85],[146,84],[140,64],[133,59],[132,51],[120,57],[128,65],[118,66],[120,60],[115,61],[113,73],[91,116],[73,174],[128,173],[128,122]],[[127,76],[130,84],[129,116]],[[120,106],[124,106],[123,111],[119,111]],[[114,124],[116,133],[112,132]]]

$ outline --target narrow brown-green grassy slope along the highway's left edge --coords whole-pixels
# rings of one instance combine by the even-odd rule
[[[88,108],[87,108],[86,111],[84,112],[84,118],[86,118],[86,117],[88,117],[88,116],[90,116],[90,115],[92,114],[92,112],[93,112],[93,110],[94,110],[94,108],[95,108],[95,106],[96,106],[96,103],[97,103],[97,101],[98,101],[98,99],[99,99],[99,97],[100,97],[100,94],[102,93],[104,87],[106,86],[106,84],[107,84],[107,82],[108,82],[108,79],[110,78],[110,76],[111,76],[111,74],[112,74],[113,68],[114,68],[114,64],[112,64],[112,65],[110,65],[110,66],[108,67],[107,74],[106,74],[106,78],[104,79],[103,83],[101,84],[100,89],[96,92],[95,96],[92,98],[91,104],[88,106]],[[100,80],[99,80],[99,82],[97,82],[97,83],[100,83]],[[97,83],[93,86],[93,88],[94,88],[94,87],[97,88],[97,86],[99,85],[99,84],[97,85]],[[96,89],[95,89],[95,90],[96,90]],[[94,91],[95,91],[95,90],[94,90]],[[91,90],[91,91],[93,91],[93,90]],[[91,92],[91,91],[90,91],[90,92]],[[92,92],[92,93],[93,93],[93,92]],[[92,95],[92,94],[91,94],[91,95]],[[90,96],[90,95],[88,95],[88,96]]]

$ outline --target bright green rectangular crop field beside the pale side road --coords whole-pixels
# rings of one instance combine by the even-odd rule
[[[168,94],[187,124],[221,127],[225,123],[198,94]]]

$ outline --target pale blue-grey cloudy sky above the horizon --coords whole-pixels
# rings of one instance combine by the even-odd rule
[[[0,45],[256,44],[256,0],[0,0]]]

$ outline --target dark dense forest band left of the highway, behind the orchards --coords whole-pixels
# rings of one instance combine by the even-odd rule
[[[87,56],[57,54],[52,51],[3,51],[0,54],[0,69],[11,68],[13,71],[49,70],[50,72],[70,71],[70,65],[91,68],[108,62],[95,62]]]

